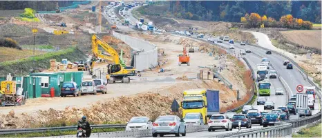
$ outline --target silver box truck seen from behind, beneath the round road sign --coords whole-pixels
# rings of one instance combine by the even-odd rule
[[[303,91],[303,89],[302,89],[302,91]],[[300,116],[300,113],[304,113],[304,116],[305,116],[305,110],[307,110],[307,99],[308,99],[308,97],[307,97],[307,94],[305,94],[305,93],[297,93],[296,94],[296,107],[295,108],[297,109],[298,118]]]

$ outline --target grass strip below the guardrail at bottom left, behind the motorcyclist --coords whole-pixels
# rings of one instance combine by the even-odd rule
[[[94,128],[93,133],[97,132],[115,132],[115,131],[124,131],[124,128]],[[61,135],[76,135],[77,130],[55,130],[55,131],[46,131],[46,132],[28,132],[28,133],[19,133],[19,134],[8,134],[0,135],[0,137],[53,137]]]

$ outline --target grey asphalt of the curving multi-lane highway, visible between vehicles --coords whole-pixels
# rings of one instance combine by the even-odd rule
[[[111,9],[113,10],[113,9]],[[133,9],[131,9],[133,10]],[[131,14],[131,10],[129,10],[129,17],[130,23],[136,23],[138,20],[133,17]],[[108,12],[113,12],[113,11],[108,11]],[[119,11],[116,11],[119,12]],[[106,19],[108,19],[107,16]],[[117,26],[118,27],[118,26]],[[129,28],[127,26],[122,26],[122,28]],[[122,28],[119,28],[122,30]],[[196,36],[193,36],[196,37]],[[197,39],[197,38],[194,38]],[[202,39],[205,41],[205,39]],[[261,40],[259,40],[261,41]],[[224,42],[224,43],[214,43],[220,46],[223,46],[225,48],[229,48],[229,43]],[[299,68],[296,66],[293,66],[292,70],[287,70],[285,66],[283,66],[283,61],[287,60],[281,55],[276,55],[273,53],[272,55],[267,55],[265,53],[265,50],[262,48],[258,48],[257,46],[251,46],[251,45],[245,45],[245,46],[240,46],[239,43],[235,43],[235,51],[239,51],[240,49],[250,49],[252,50],[252,53],[247,53],[246,55],[243,55],[247,61],[249,61],[250,66],[254,69],[254,72],[256,72],[257,64],[261,63],[261,58],[267,57],[270,61],[271,68],[270,70],[276,70],[278,72],[278,75],[280,79],[269,79],[272,87],[271,87],[271,95],[267,96],[267,99],[270,101],[273,101],[275,103],[275,107],[277,108],[278,106],[285,106],[287,103],[288,99],[292,95],[296,95],[296,86],[299,84],[303,86],[310,86],[310,83],[303,77],[302,73]],[[290,93],[285,93],[285,95],[275,95],[275,90],[276,88],[282,88],[284,92],[290,92]],[[312,114],[316,114],[320,110],[319,106],[319,100],[316,100],[316,103],[314,104],[314,110],[312,110]],[[255,104],[256,105],[256,104]],[[257,106],[259,109],[263,109],[263,106]],[[298,119],[297,115],[291,115],[290,119]],[[262,126],[259,125],[254,125],[251,129],[254,128],[260,128]],[[245,129],[245,128],[244,128]],[[233,132],[237,131],[237,129],[233,129]],[[231,132],[231,131],[230,131]],[[216,132],[191,132],[187,134],[187,137],[212,137],[214,135],[220,135],[220,134],[225,134],[227,133],[224,130],[218,130]]]

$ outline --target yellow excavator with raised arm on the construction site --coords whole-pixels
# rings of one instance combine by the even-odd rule
[[[101,46],[111,56],[103,55],[102,52],[98,50],[98,46]],[[102,41],[102,39],[97,37],[95,34],[92,37],[92,48],[93,57],[91,59],[90,75],[93,75],[95,61],[97,61],[98,58],[101,58],[114,62],[107,66],[106,79],[108,83],[115,83],[115,81],[130,83],[129,76],[135,76],[136,70],[133,67],[126,67],[124,61],[122,58],[120,59],[119,54],[114,48],[109,46],[105,41]]]

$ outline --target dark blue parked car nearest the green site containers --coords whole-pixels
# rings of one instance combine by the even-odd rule
[[[67,95],[79,96],[79,87],[73,81],[64,82],[60,89],[60,96],[66,97]]]

